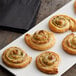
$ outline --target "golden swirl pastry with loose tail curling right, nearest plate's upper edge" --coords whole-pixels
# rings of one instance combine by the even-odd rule
[[[76,31],[76,21],[66,15],[56,15],[50,19],[49,28],[57,33],[63,33],[67,30]]]

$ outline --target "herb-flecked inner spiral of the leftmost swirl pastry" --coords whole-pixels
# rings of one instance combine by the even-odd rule
[[[18,48],[11,48],[6,51],[5,57],[12,63],[21,63],[25,60],[27,54]]]

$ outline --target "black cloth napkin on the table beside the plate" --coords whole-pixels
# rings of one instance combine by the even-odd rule
[[[34,26],[40,0],[0,0],[0,29],[24,33]]]

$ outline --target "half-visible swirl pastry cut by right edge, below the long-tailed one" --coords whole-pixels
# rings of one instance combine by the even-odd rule
[[[71,33],[66,36],[62,42],[62,47],[67,53],[76,55],[76,35]]]

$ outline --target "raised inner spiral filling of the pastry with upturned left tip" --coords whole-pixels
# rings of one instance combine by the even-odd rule
[[[33,34],[31,40],[36,44],[47,43],[50,40],[50,33],[45,30],[37,31]]]

